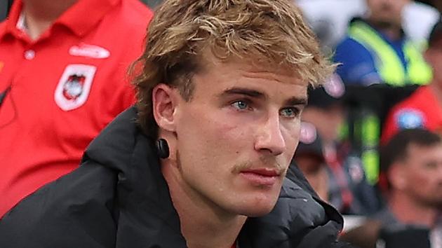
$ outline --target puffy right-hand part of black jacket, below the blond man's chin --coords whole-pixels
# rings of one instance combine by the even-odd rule
[[[278,248],[340,245],[336,240],[342,228],[342,216],[316,194],[309,193],[310,187],[308,183],[303,185],[302,174],[292,179],[284,181],[272,212],[248,219],[239,239],[240,245]]]

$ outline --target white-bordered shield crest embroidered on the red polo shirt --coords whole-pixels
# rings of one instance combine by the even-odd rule
[[[64,111],[83,105],[89,96],[97,67],[86,64],[69,64],[55,89],[55,102]]]

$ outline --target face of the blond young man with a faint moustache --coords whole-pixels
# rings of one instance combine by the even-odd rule
[[[175,109],[181,186],[230,214],[267,214],[298,143],[307,83],[239,60],[210,62],[192,82],[192,99]]]

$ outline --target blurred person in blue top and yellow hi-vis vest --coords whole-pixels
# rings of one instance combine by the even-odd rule
[[[342,63],[337,74],[344,83],[429,83],[431,69],[402,29],[403,8],[410,0],[366,0],[366,4],[367,15],[351,20],[347,38],[335,51],[335,62]]]

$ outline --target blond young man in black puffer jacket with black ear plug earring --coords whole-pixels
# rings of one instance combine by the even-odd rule
[[[286,179],[307,85],[334,68],[299,9],[169,0],[147,36],[136,109],[4,216],[0,246],[340,245],[341,216],[299,170]]]

